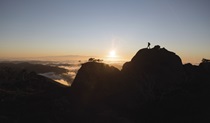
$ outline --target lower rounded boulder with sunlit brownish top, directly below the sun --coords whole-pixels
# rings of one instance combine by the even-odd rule
[[[104,63],[82,64],[71,85],[73,101],[82,105],[104,102],[117,88],[120,71]]]

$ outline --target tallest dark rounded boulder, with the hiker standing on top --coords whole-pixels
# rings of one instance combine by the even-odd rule
[[[147,98],[159,97],[185,80],[180,57],[160,46],[139,50],[123,65],[122,74],[126,83],[137,85]]]

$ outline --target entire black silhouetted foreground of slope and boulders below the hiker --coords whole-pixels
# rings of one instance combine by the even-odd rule
[[[139,50],[121,71],[84,63],[71,87],[0,69],[0,122],[210,122],[209,64],[183,65],[155,46]]]

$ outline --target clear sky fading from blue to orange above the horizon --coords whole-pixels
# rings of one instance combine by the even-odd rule
[[[0,58],[106,56],[147,46],[210,59],[210,0],[0,0]]]

